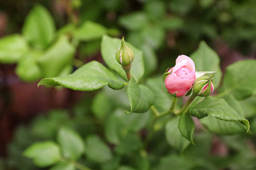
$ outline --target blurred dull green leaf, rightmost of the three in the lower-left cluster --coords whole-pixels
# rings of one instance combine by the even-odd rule
[[[85,148],[86,156],[93,162],[105,163],[113,157],[109,147],[96,135],[86,137]]]

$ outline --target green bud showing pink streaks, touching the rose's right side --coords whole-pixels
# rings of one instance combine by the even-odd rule
[[[204,74],[193,83],[193,93],[197,96],[209,96],[214,90],[214,74]]]

